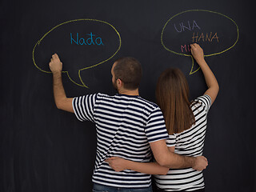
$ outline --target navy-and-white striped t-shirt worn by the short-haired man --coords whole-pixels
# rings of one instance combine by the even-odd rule
[[[142,188],[151,184],[150,174],[134,170],[115,172],[106,158],[120,157],[150,162],[150,142],[168,138],[162,111],[140,96],[90,94],[73,99],[78,120],[94,122],[97,152],[93,182],[115,187]]]

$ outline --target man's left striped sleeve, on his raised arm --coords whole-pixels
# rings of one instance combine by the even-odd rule
[[[97,94],[88,94],[73,98],[72,105],[74,114],[79,121],[94,122],[94,105],[96,102]]]

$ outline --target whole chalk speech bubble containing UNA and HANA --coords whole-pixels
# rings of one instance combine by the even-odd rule
[[[171,17],[162,29],[162,46],[173,54],[192,58],[190,74],[194,70],[194,58],[190,44],[198,43],[204,56],[210,57],[230,50],[238,42],[238,25],[224,14],[210,10],[186,10]]]

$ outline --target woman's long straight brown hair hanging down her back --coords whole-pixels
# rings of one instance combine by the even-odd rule
[[[177,134],[190,129],[195,120],[190,108],[189,86],[182,71],[173,68],[163,71],[155,94],[168,133]]]

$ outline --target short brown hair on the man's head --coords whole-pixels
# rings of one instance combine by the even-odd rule
[[[126,90],[136,90],[142,79],[142,66],[136,58],[118,58],[115,61],[114,77],[120,79]]]

